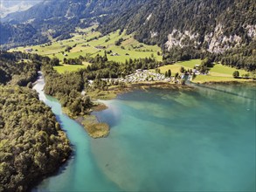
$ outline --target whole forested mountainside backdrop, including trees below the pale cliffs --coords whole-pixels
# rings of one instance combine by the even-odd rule
[[[253,0],[44,1],[3,18],[0,43],[3,49],[44,44],[98,24],[103,36],[121,30],[159,45],[168,62],[214,54],[215,61],[225,58],[228,65],[252,71],[255,10]]]

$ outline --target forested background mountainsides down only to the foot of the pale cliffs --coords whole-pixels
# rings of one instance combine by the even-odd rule
[[[105,33],[135,31],[139,41],[166,45],[168,49],[195,45],[220,52],[255,38],[255,12],[253,0],[61,0],[38,3],[2,21],[26,27],[31,24],[34,34],[46,36],[44,31],[48,31],[53,37],[73,31],[74,26],[96,22]]]

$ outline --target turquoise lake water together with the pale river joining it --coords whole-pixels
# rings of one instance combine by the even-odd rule
[[[122,94],[95,113],[111,126],[98,140],[43,87],[74,154],[33,191],[255,191],[255,86]]]

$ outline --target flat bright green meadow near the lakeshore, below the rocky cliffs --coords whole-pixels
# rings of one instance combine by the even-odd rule
[[[189,61],[183,61],[183,62],[176,62],[173,65],[164,65],[159,67],[161,73],[165,73],[168,70],[171,71],[172,76],[175,75],[176,72],[180,73],[180,68],[183,66],[185,70],[193,69],[195,65],[201,64],[200,59],[191,59]],[[210,73],[208,75],[197,75],[197,78],[193,80],[193,82],[197,83],[204,83],[207,81],[246,81],[246,79],[234,79],[232,77],[232,73],[234,71],[239,71],[239,75],[242,76],[243,74],[248,74],[245,70],[237,70],[235,68],[215,64],[213,67],[210,68]]]

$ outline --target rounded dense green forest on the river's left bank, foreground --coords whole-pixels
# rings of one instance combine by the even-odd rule
[[[25,191],[52,173],[71,148],[66,134],[36,92],[0,86],[0,190]]]

